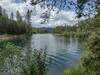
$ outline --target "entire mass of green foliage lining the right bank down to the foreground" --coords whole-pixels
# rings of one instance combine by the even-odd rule
[[[99,0],[98,0],[99,1]],[[84,53],[79,67],[65,71],[65,75],[100,75],[100,14],[78,23],[77,30],[88,37],[83,43]],[[75,32],[75,35],[77,32]]]

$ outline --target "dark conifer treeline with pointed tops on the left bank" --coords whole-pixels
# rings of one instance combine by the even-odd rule
[[[17,21],[15,21],[13,13],[11,13],[11,17],[9,19],[7,14],[4,14],[6,12],[3,12],[2,10],[3,9],[0,7],[0,34],[31,34],[31,25],[22,21],[22,17],[18,11],[16,17]]]

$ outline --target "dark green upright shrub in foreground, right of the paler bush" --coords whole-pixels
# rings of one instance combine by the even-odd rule
[[[46,52],[44,50],[35,50],[22,66],[21,75],[45,75],[47,70]]]

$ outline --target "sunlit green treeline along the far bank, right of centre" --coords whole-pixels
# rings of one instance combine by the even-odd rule
[[[54,28],[54,33],[64,36],[88,37],[92,32],[100,31],[100,16],[82,20],[74,26],[58,26]]]

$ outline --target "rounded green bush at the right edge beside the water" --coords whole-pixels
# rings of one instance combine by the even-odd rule
[[[100,36],[93,33],[85,44],[86,56],[82,59],[82,67],[86,71],[100,74]]]

